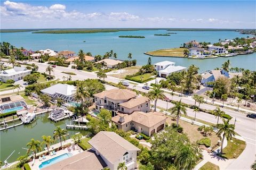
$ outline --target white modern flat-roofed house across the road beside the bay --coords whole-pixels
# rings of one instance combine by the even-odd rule
[[[186,69],[186,67],[175,66],[175,63],[170,61],[155,63],[154,66],[155,70],[158,72],[158,76],[163,78],[168,77],[171,73],[180,72]]]

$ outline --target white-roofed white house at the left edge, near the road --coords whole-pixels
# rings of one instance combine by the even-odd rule
[[[26,67],[14,67],[13,69],[8,69],[0,73],[0,80],[6,82],[7,80],[22,80],[26,75],[30,74],[31,70],[26,69]]]

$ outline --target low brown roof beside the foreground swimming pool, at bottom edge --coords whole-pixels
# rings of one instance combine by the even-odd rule
[[[47,166],[43,169],[85,169],[85,170],[100,170],[106,167],[106,163],[100,156],[97,156],[94,151],[87,150],[80,154],[61,160],[58,163]]]

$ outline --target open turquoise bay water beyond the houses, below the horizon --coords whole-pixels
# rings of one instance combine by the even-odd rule
[[[154,36],[156,33],[177,32],[171,36]],[[119,38],[120,35],[145,36],[146,38]],[[128,53],[132,53],[137,65],[147,63],[148,55],[144,52],[179,47],[189,40],[206,41],[215,43],[220,39],[234,39],[236,37],[247,37],[235,31],[120,31],[108,33],[70,33],[70,34],[41,34],[31,32],[1,33],[1,41],[8,41],[16,47],[40,50],[50,48],[53,50],[73,50],[78,52],[83,49],[93,55],[103,55],[113,49],[120,60],[126,60]],[[83,41],[86,41],[83,43]],[[243,67],[244,69],[256,70],[256,53],[240,55],[229,58],[215,58],[207,60],[192,60],[187,58],[151,57],[153,63],[168,60],[176,62],[176,65],[188,67],[195,64],[200,71],[221,67],[221,64],[230,60],[232,67]]]

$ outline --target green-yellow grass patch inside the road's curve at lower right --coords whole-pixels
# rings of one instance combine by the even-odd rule
[[[219,156],[228,159],[236,159],[246,147],[245,141],[232,138],[232,141],[228,141],[228,146],[223,149],[224,154],[219,154]]]

